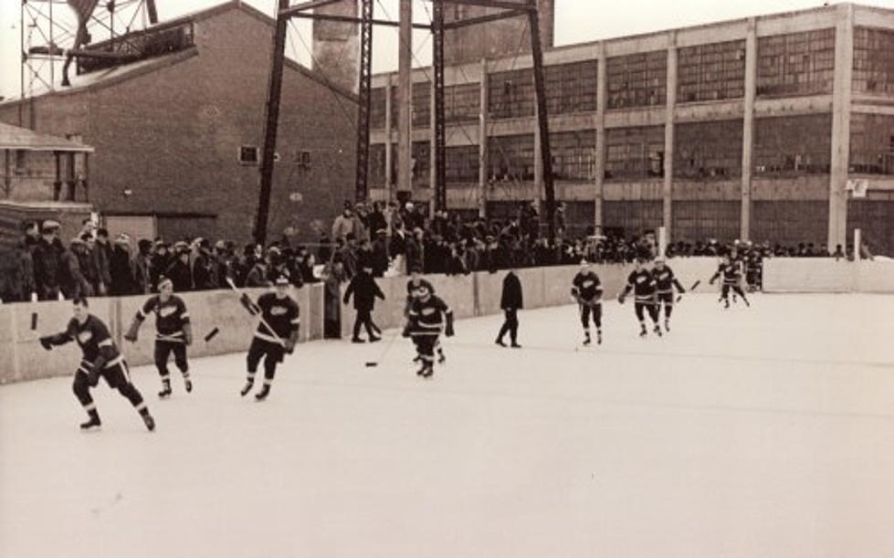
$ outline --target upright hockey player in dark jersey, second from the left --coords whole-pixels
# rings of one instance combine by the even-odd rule
[[[159,279],[158,294],[143,303],[133,317],[131,327],[124,333],[124,339],[136,342],[140,326],[149,314],[155,314],[155,367],[162,376],[162,391],[158,396],[171,395],[171,376],[168,373],[168,357],[171,353],[174,353],[174,364],[184,376],[186,393],[192,392],[193,382],[189,377],[186,347],[193,343],[193,330],[186,304],[174,294],[174,282],[171,279]]]

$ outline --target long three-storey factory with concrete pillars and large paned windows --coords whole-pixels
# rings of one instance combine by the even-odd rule
[[[890,254],[892,52],[894,11],[851,4],[548,49],[556,199],[579,228],[834,248],[861,227]],[[449,208],[503,216],[542,199],[531,65],[510,55],[447,68]],[[420,201],[431,197],[430,76],[413,74]],[[398,163],[395,84],[373,77],[377,198]],[[865,198],[848,192],[855,180],[868,181]]]

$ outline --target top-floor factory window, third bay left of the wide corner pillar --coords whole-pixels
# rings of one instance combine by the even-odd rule
[[[606,72],[609,109],[667,102],[668,53],[664,50],[608,58]]]

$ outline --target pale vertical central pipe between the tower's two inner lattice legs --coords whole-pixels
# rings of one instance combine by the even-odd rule
[[[397,46],[397,189],[413,191],[413,5],[412,0],[401,0],[400,29]]]

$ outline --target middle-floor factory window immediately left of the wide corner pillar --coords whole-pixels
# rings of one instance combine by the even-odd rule
[[[831,114],[754,119],[754,174],[828,174],[831,138]]]

